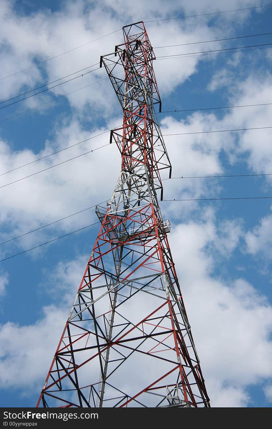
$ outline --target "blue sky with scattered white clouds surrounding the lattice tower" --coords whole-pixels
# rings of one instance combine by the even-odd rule
[[[256,5],[244,0],[227,6],[219,0],[138,1],[137,7],[123,0],[0,0],[0,79],[13,75],[0,80],[0,101],[97,63],[122,43],[121,31],[31,67],[123,25]],[[266,7],[157,21],[146,28],[159,57],[272,43],[272,35],[266,35],[155,49],[269,33],[271,18],[272,7]],[[272,103],[272,49],[263,48],[156,60],[162,111]],[[1,109],[0,174],[121,124],[108,79],[94,83],[106,77],[99,69]],[[162,133],[173,134],[269,127],[271,115],[271,106],[253,106],[161,113],[159,120]],[[165,180],[164,198],[272,196],[270,135],[262,129],[165,136],[173,177],[266,176]],[[1,175],[0,186],[108,142],[105,133]],[[0,242],[110,198],[119,169],[119,154],[111,145],[0,188]],[[212,406],[271,406],[271,204],[271,199],[161,203],[171,221],[169,241]],[[0,259],[96,221],[94,209],[84,211],[0,245]],[[0,263],[1,406],[36,404],[97,233],[95,225]]]

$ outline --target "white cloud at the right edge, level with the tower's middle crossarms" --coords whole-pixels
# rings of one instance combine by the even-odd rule
[[[229,101],[226,105],[229,106],[269,103],[272,97],[272,75],[262,69],[240,78],[237,77],[236,68],[220,70],[215,73],[209,88],[218,89],[222,85],[228,85],[226,94],[229,95]],[[272,106],[229,109],[221,120],[213,121],[214,130],[269,127],[271,115]],[[203,115],[203,118],[207,121],[208,129],[211,117]],[[228,136],[224,134],[224,140],[226,138],[229,142],[223,149],[232,163],[246,157],[248,168],[253,172],[271,173],[272,148],[269,129],[228,133]],[[268,176],[266,180],[271,181],[271,177]]]

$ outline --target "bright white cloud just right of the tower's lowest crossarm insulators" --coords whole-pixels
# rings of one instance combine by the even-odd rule
[[[214,115],[205,117],[198,113],[189,116],[186,120],[177,121],[171,116],[161,120],[162,134],[191,133],[214,129],[212,123],[216,122]],[[203,196],[216,196],[221,189],[216,179],[186,179],[186,176],[216,175],[223,172],[220,162],[222,148],[218,137],[214,134],[173,135],[165,136],[165,143],[172,163],[172,180],[165,180],[165,199],[190,199]],[[185,177],[184,179],[178,179]],[[196,208],[196,202],[186,202],[183,205],[183,215]],[[162,205],[165,215],[179,219],[180,211],[177,203]]]

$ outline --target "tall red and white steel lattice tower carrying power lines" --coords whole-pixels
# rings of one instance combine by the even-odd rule
[[[37,406],[209,407],[157,191],[171,164],[143,22],[101,57],[123,109],[122,168]]]

